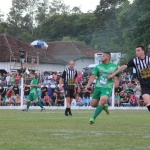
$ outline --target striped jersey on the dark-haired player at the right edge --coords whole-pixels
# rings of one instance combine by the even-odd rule
[[[141,85],[150,86],[150,57],[144,59],[133,58],[127,63],[128,68],[134,67]]]

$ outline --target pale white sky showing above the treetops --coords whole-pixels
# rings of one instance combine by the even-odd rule
[[[0,0],[0,10],[7,14],[11,7],[12,0]],[[80,7],[82,12],[87,12],[88,10],[95,10],[96,6],[99,4],[100,0],[64,0],[66,5],[71,8],[74,6]]]

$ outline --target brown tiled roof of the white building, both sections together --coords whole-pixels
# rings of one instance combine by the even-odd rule
[[[12,59],[19,58],[18,49],[22,48],[27,52],[28,61],[39,54],[40,63],[66,64],[69,60],[78,60],[81,58],[93,59],[95,53],[101,51],[77,44],[74,42],[48,42],[46,50],[33,48],[29,43],[25,43],[11,37],[7,34],[0,35],[0,61],[9,62]]]

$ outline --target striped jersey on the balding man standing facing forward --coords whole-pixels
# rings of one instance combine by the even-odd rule
[[[76,69],[69,69],[66,68],[63,73],[61,78],[64,79],[64,87],[65,88],[74,88],[75,84],[75,79],[77,77],[77,70]]]

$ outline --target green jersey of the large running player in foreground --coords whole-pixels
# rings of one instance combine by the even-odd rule
[[[107,79],[110,74],[115,72],[118,69],[118,65],[109,63],[109,64],[99,64],[97,65],[92,74],[97,76],[96,79],[96,87],[103,87],[103,88],[113,88],[114,79]],[[117,76],[119,76],[118,74]]]

